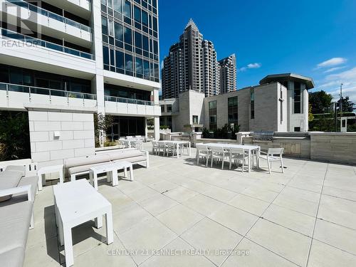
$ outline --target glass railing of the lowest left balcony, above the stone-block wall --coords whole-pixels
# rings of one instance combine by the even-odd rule
[[[31,94],[39,94],[39,95],[49,95],[49,96],[61,96],[63,98],[80,98],[80,99],[96,100],[96,95],[94,94],[48,89],[48,88],[41,88],[41,87],[27,86],[27,85],[17,85],[13,83],[0,83],[0,90],[6,90],[7,92],[28,93],[30,96]]]

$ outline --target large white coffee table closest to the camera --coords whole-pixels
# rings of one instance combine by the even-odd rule
[[[106,241],[111,244],[114,235],[112,229],[112,208],[110,202],[98,193],[86,179],[53,186],[56,223],[61,245],[64,244],[66,266],[72,266],[73,241],[72,228],[85,221],[95,219],[98,228],[106,221]]]

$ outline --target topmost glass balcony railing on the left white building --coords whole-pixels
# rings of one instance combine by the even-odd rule
[[[64,16],[58,15],[51,11],[47,11],[46,9],[41,9],[41,7],[35,6],[33,4],[29,4],[26,1],[22,1],[22,0],[5,0],[5,1],[9,2],[11,4],[15,4],[16,6],[21,6],[23,8],[30,10],[30,11],[41,14],[43,16],[47,16],[48,18],[56,19],[56,21],[61,21],[61,22],[66,23],[70,26],[74,26],[75,28],[80,28],[80,30],[82,30],[82,31],[88,31],[88,33],[91,33],[91,28],[89,26],[86,26],[86,25],[79,23],[77,21],[73,21],[71,19],[67,19]]]

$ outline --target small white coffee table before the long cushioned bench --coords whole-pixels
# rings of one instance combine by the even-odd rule
[[[109,164],[98,165],[95,167],[91,167],[89,169],[89,179],[90,184],[93,185],[95,189],[98,190],[98,174],[105,173],[108,182],[112,182],[112,187],[117,186],[119,184],[119,180],[117,177],[117,171],[120,169],[124,170],[124,175],[127,177],[127,168],[130,169],[130,179],[133,180],[133,169],[132,163],[122,160],[120,162],[112,162]]]

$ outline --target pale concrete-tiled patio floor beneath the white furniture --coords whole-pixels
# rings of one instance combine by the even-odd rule
[[[285,159],[284,174],[277,163],[242,174],[155,155],[150,165],[134,182],[99,183],[115,240],[103,244],[93,222],[73,229],[74,266],[356,266],[356,167]],[[51,186],[35,221],[24,266],[64,265]]]

